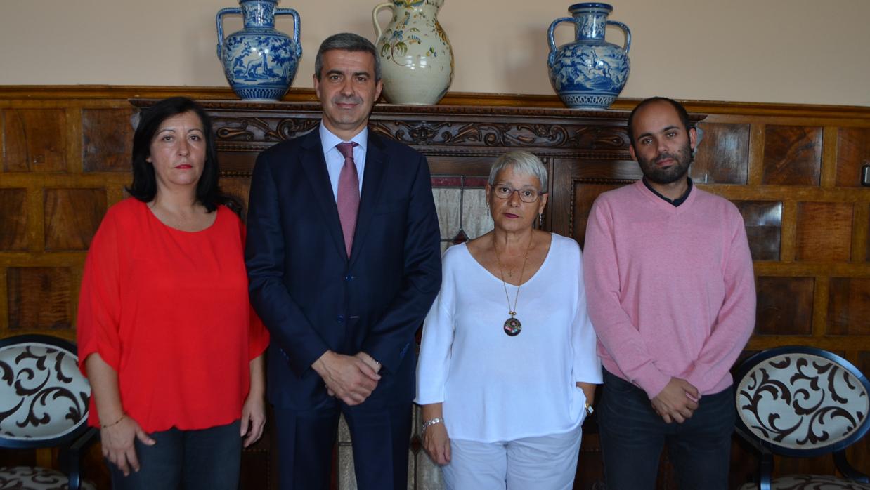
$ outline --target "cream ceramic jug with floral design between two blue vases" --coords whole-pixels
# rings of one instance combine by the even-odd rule
[[[444,0],[392,0],[372,12],[387,102],[435,104],[447,93],[453,81],[453,51],[436,18],[443,4]],[[392,19],[381,30],[378,11],[383,9],[392,10]]]

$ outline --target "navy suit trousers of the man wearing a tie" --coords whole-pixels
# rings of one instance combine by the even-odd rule
[[[281,490],[327,490],[338,415],[351,431],[353,468],[359,490],[405,490],[411,403],[389,407],[348,407],[335,401],[330,408],[308,411],[274,407],[278,429],[278,487]]]

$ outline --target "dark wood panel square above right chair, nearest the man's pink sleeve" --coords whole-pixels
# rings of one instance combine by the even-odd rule
[[[764,277],[756,281],[755,334],[813,334],[813,277]]]

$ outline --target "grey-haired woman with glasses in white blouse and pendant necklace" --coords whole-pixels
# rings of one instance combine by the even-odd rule
[[[538,157],[490,170],[495,228],[449,248],[423,328],[424,447],[453,489],[571,488],[601,365],[580,249],[533,228],[546,205]]]

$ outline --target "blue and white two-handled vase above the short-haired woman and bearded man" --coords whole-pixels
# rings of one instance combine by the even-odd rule
[[[607,109],[626,86],[632,32],[624,23],[607,20],[612,10],[607,3],[574,3],[568,8],[572,17],[554,20],[547,30],[550,82],[562,102],[572,109]],[[553,30],[564,22],[574,24],[576,39],[557,49]],[[625,47],[604,40],[608,25],[625,32]]]

